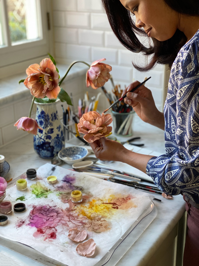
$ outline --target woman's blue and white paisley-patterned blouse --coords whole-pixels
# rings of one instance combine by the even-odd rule
[[[150,159],[146,173],[166,194],[199,203],[199,30],[172,65],[164,116],[166,154]]]

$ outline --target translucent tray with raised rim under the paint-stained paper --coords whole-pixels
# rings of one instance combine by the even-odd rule
[[[151,201],[139,218],[132,224],[132,226],[129,227],[123,236],[94,266],[115,266],[156,216],[157,208],[155,207],[153,201]],[[0,237],[0,245],[46,266],[70,266],[51,259],[25,244],[21,244],[6,238]]]

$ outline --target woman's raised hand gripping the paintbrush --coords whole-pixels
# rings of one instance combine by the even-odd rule
[[[122,96],[127,93],[124,102],[131,105],[144,122],[165,130],[164,114],[155,106],[151,91],[142,85],[135,92],[129,92],[139,84],[139,81],[135,81],[123,91]]]

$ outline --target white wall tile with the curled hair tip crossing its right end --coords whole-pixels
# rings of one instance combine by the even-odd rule
[[[139,66],[144,66],[147,64],[147,57],[141,53],[133,53],[128,50],[119,50],[119,65],[133,66],[132,62]]]

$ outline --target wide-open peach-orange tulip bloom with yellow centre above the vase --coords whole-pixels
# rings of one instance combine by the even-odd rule
[[[40,65],[33,64],[26,69],[28,77],[24,80],[24,85],[36,98],[57,99],[60,92],[59,74],[52,60],[45,58]]]

